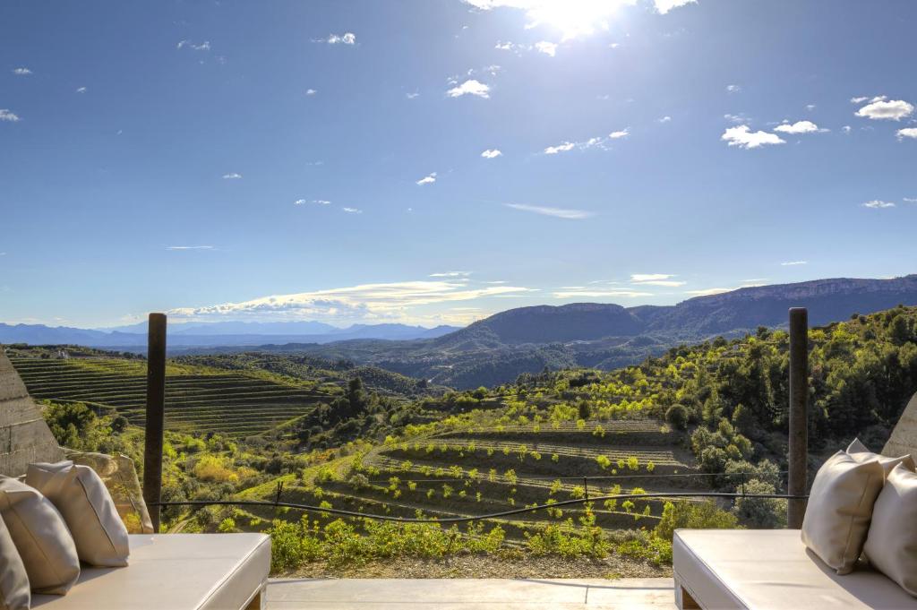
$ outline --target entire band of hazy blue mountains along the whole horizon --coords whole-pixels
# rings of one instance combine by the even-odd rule
[[[678,305],[574,303],[519,307],[468,327],[400,324],[331,327],[321,322],[172,324],[171,350],[251,350],[352,360],[459,388],[513,381],[523,372],[633,364],[680,343],[735,337],[786,324],[791,306],[810,324],[845,320],[895,305],[917,305],[917,274],[837,278],[741,288]],[[0,324],[0,342],[82,344],[142,351],[145,324],[103,330]]]

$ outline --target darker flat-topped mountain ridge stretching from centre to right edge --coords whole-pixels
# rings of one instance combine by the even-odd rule
[[[783,327],[790,306],[809,307],[814,325],[899,304],[917,304],[917,275],[757,286],[671,306],[538,305],[504,311],[436,339],[274,344],[260,349],[353,360],[473,388],[512,382],[519,374],[545,368],[610,371],[683,343],[739,337],[757,327]]]

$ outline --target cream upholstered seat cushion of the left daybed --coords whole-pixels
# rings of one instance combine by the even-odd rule
[[[49,610],[239,610],[267,582],[264,534],[131,534],[127,568],[86,568],[66,597],[33,595]]]

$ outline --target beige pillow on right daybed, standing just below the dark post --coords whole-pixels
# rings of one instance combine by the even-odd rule
[[[845,451],[835,453],[815,474],[802,543],[838,574],[853,571],[884,479],[878,460],[856,461]]]

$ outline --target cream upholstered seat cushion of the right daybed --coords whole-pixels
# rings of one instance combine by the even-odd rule
[[[917,608],[878,571],[836,574],[805,548],[798,529],[679,529],[672,555],[677,584],[705,610]]]

